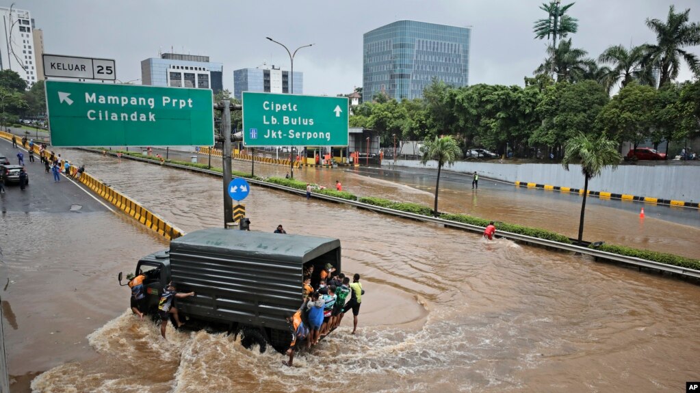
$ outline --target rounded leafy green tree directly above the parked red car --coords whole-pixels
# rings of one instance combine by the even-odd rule
[[[633,149],[651,136],[656,90],[630,83],[612,97],[598,115],[597,124],[618,143],[630,141]]]

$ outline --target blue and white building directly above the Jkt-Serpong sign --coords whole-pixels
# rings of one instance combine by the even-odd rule
[[[289,71],[279,67],[262,66],[233,71],[233,97],[241,99],[243,92],[288,93],[294,83],[293,94],[304,94],[304,73],[295,71],[290,80]]]

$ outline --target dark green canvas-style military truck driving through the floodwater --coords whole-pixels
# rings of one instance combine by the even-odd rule
[[[217,228],[172,240],[169,249],[141,258],[134,273],[146,275],[146,313],[158,315],[160,294],[172,280],[179,292],[196,293],[174,303],[190,328],[240,333],[246,348],[258,344],[263,352],[269,343],[284,352],[292,338],[285,318],[302,304],[309,264],[312,283],[326,264],[340,273],[340,241]],[[122,273],[118,278],[121,283]]]

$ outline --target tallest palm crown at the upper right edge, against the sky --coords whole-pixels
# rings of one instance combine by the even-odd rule
[[[682,13],[674,13],[673,6],[668,7],[666,22],[647,18],[647,27],[657,35],[655,45],[645,45],[644,63],[661,72],[659,87],[678,78],[680,57],[694,73],[700,73],[700,64],[696,55],[682,48],[700,45],[700,23],[688,22],[688,8]]]

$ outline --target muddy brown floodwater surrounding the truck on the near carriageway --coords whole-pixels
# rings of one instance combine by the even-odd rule
[[[220,178],[66,154],[185,231],[221,226]],[[387,197],[426,193],[318,173],[350,190],[378,184]],[[700,378],[693,283],[258,187],[244,202],[253,230],[281,223],[341,239],[344,271],[367,290],[356,336],[346,317],[291,369],[223,334],[169,327],[162,341],[127,310],[116,273],[165,241],[111,213],[36,216],[76,233],[71,241],[5,215],[10,373],[48,370],[33,380],[37,392],[311,392],[329,378],[367,392],[678,392]]]

